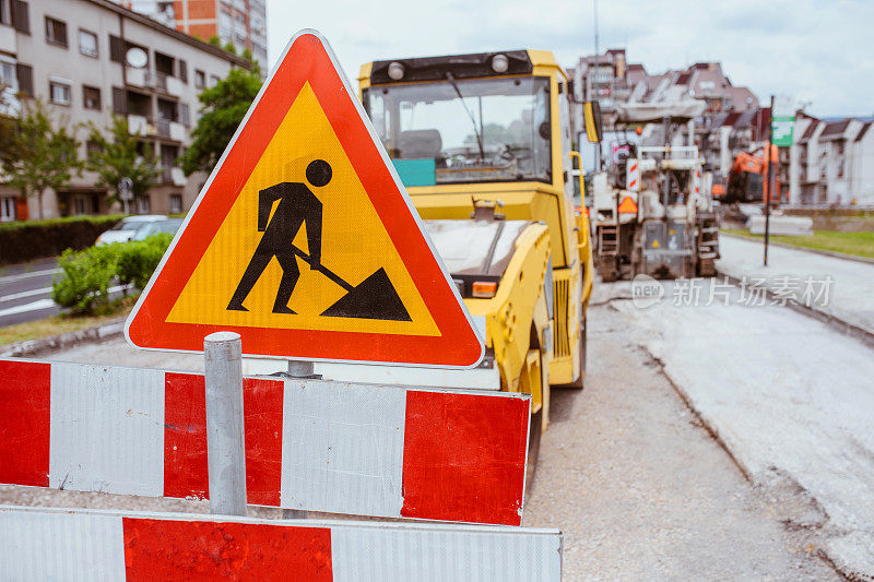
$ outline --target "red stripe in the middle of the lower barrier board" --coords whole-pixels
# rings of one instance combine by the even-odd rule
[[[331,531],[123,518],[128,580],[331,581]]]

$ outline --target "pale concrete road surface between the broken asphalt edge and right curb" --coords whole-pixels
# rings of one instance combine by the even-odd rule
[[[874,579],[874,349],[784,307],[746,305],[737,288],[709,301],[719,282],[698,282],[697,305],[678,300],[688,282],[664,283],[651,307],[611,305],[787,527],[810,532],[851,579]],[[628,297],[628,283],[614,287]]]

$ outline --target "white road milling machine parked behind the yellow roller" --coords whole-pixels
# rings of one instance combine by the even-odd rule
[[[700,115],[700,102],[621,105],[617,123],[656,124],[662,145],[625,144],[607,171],[592,178],[598,270],[603,281],[712,276],[719,225],[712,175],[676,130]]]

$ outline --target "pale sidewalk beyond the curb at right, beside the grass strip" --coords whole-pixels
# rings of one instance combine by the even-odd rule
[[[717,261],[717,269],[721,274],[764,285],[771,293],[788,295],[815,311],[874,334],[874,264],[769,246],[768,266],[764,268],[760,241],[721,235],[719,245],[722,258]],[[814,295],[822,294],[818,300],[804,300],[808,280],[815,283]]]

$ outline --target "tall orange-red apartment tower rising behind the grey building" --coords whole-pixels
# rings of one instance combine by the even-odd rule
[[[265,0],[117,0],[167,26],[204,40],[213,35],[222,44],[248,48],[267,70]]]

